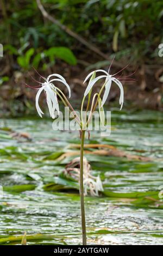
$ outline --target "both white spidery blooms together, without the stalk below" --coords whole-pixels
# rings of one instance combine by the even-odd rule
[[[85,83],[90,78],[89,84],[88,84],[88,86],[85,90],[85,93],[84,93],[84,99],[85,99],[85,97],[88,94],[91,94],[92,87],[96,84],[96,82],[105,78],[104,84],[102,86],[102,91],[105,88],[105,92],[103,94],[102,100],[101,100],[102,91],[99,94],[97,94],[98,95],[99,111],[103,111],[103,105],[104,105],[104,103],[106,102],[106,100],[108,98],[112,82],[117,84],[117,86],[120,88],[120,100],[119,100],[120,105],[121,105],[120,109],[122,109],[122,106],[123,106],[124,92],[123,92],[123,86],[122,86],[121,81],[125,81],[124,80],[125,78],[115,77],[115,75],[118,72],[114,75],[110,75],[109,71],[110,71],[110,68],[109,68],[108,72],[106,72],[105,70],[102,70],[102,69],[92,71],[92,72],[90,72],[89,75],[87,75],[87,77],[84,80],[84,83]],[[96,73],[98,73],[98,72],[102,72],[103,75],[100,75],[100,76],[96,77]],[[71,96],[70,86],[66,82],[65,78],[62,77],[59,74],[52,74],[52,75],[49,75],[47,78],[40,76],[40,78],[43,79],[43,82],[42,83],[38,82],[39,86],[34,87],[35,89],[38,89],[38,92],[36,94],[36,109],[37,109],[37,112],[40,115],[40,117],[42,117],[43,112],[42,112],[42,110],[39,106],[39,97],[40,97],[41,92],[44,91],[45,94],[46,94],[46,101],[47,101],[49,113],[50,113],[51,117],[54,119],[56,117],[55,111],[59,115],[58,96],[62,100],[61,96],[63,94],[63,92],[54,83],[61,82],[62,84],[65,84],[65,86],[68,89],[69,97]],[[94,95],[94,96],[96,96],[96,95]],[[64,97],[65,97],[65,95],[64,95]]]

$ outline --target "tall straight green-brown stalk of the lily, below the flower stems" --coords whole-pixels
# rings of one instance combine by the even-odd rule
[[[86,245],[86,226],[85,226],[85,209],[84,209],[84,186],[83,186],[83,151],[84,151],[84,137],[85,131],[81,131],[81,145],[80,145],[80,207],[82,217],[82,237],[83,245]]]

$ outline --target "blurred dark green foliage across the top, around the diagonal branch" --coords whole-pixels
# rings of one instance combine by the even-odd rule
[[[163,39],[162,1],[42,0],[41,3],[55,19],[103,52],[117,52],[117,58],[135,62],[158,57],[158,45]],[[4,51],[16,56],[23,69],[30,65],[46,68],[56,58],[71,65],[77,63],[74,54],[78,56],[83,45],[43,19],[36,1],[1,0],[1,7],[0,41]]]

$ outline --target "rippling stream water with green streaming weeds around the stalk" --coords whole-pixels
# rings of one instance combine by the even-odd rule
[[[28,245],[80,244],[78,193],[43,190],[43,185],[54,182],[54,176],[72,160],[67,157],[58,162],[48,160],[48,156],[70,151],[70,143],[79,143],[78,132],[53,131],[49,119],[1,119],[0,127],[28,132],[32,137],[27,141],[0,131],[0,184],[4,187],[0,243],[18,245],[21,239],[17,236],[27,231]],[[162,128],[159,112],[112,112],[111,136],[91,133],[90,143],[114,145],[152,161],[86,155],[92,174],[101,176],[106,192],[114,192],[111,197],[85,198],[89,244],[163,245],[163,199],[158,197],[163,186]],[[142,194],[135,198],[138,192]],[[149,193],[150,198],[146,198],[143,192],[154,196]]]

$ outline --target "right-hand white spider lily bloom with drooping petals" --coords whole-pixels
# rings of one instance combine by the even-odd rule
[[[95,71],[92,71],[90,72],[89,75],[87,75],[87,77],[85,78],[84,80],[84,83],[89,79],[90,76],[92,76],[93,72],[103,72],[104,75],[101,75],[101,76],[98,76],[96,78],[94,78],[90,83],[89,85],[87,86],[86,90],[85,90],[85,93],[84,93],[84,96],[86,96],[87,94],[89,94],[90,90],[92,89],[93,85],[100,79],[102,78],[105,78],[105,92],[104,92],[104,95],[103,95],[103,99],[102,99],[102,105],[101,107],[103,107],[104,103],[106,102],[106,99],[109,95],[109,92],[110,92],[110,87],[111,87],[111,83],[112,82],[115,82],[117,84],[117,86],[120,88],[120,100],[119,100],[119,103],[121,105],[121,108],[120,110],[122,109],[122,106],[123,106],[123,98],[124,98],[124,92],[123,92],[123,86],[122,86],[122,83],[114,76],[110,75],[109,74],[109,70],[108,72],[106,72],[105,70],[103,69],[98,69],[98,70],[95,70]]]

